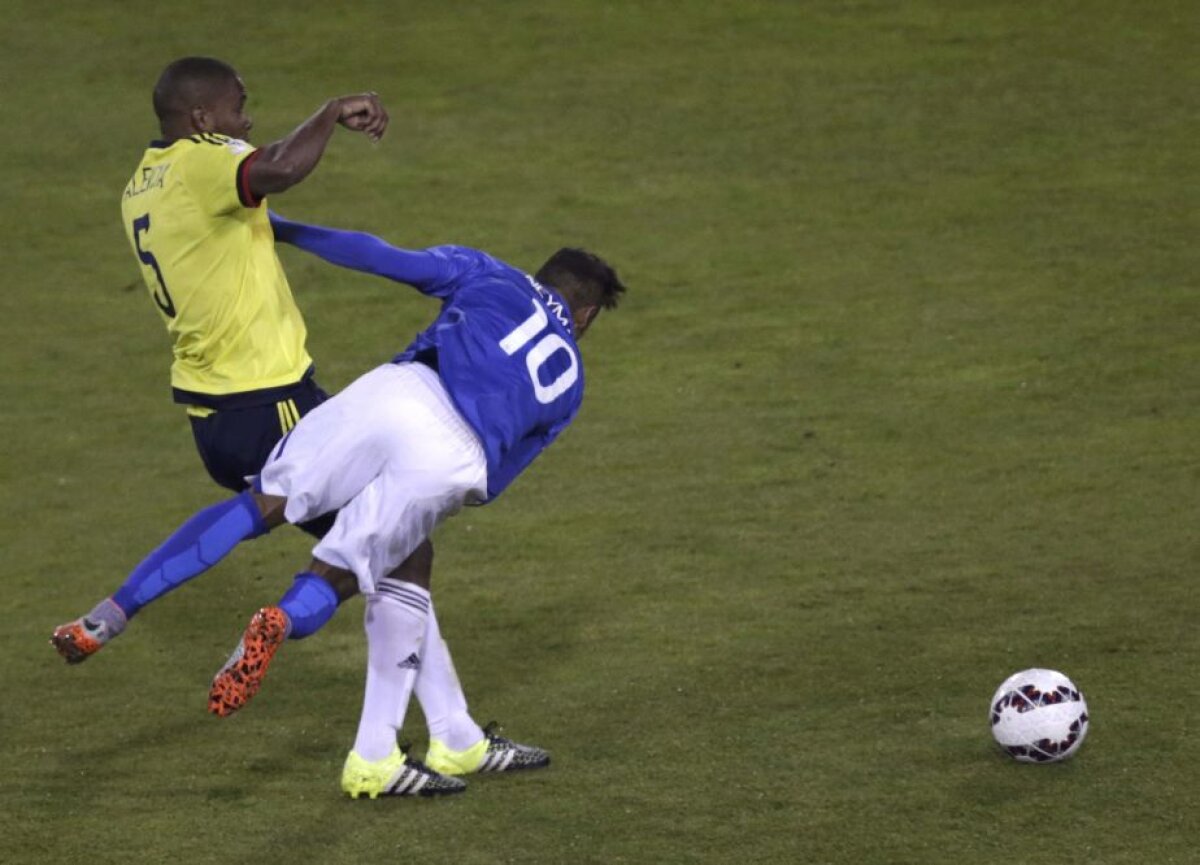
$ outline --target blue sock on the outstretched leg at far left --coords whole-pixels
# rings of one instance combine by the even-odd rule
[[[212,567],[241,541],[266,531],[248,492],[205,507],[134,567],[113,600],[126,618],[133,618],[150,601]]]

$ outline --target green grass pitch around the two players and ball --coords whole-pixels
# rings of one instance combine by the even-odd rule
[[[16,0],[0,35],[0,860],[1200,861],[1192,4],[116,8]],[[82,667],[47,645],[221,495],[118,206],[191,53],[259,143],[386,101],[276,210],[630,286],[576,425],[437,537],[473,709],[545,773],[343,799],[358,600],[208,716],[299,533]],[[281,254],[328,389],[436,311]],[[1088,697],[1069,763],[991,743],[1028,666]]]

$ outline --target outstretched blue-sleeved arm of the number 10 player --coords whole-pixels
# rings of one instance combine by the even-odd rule
[[[306,226],[271,212],[275,240],[323,258],[341,268],[384,276],[421,290],[439,281],[442,259],[430,252],[401,250],[373,234]]]

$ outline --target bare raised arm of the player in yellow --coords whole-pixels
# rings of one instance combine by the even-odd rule
[[[251,157],[246,170],[250,191],[263,198],[307,178],[338,125],[378,142],[388,128],[388,112],[374,94],[330,100],[287,137],[260,148]]]

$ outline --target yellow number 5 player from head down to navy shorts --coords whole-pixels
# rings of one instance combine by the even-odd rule
[[[275,443],[325,398],[264,198],[316,168],[338,125],[378,140],[374,94],[330,100],[284,138],[247,142],[246,86],[211,58],[170,64],[154,90],[162,137],[121,196],[130,247],[173,340],[170,384],[212,479],[246,487]]]

